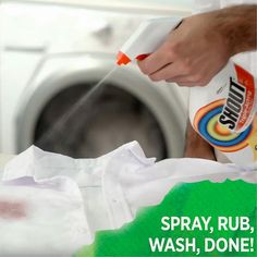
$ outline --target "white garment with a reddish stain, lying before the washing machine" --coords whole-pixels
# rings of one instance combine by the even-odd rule
[[[0,181],[0,256],[70,256],[114,230],[138,208],[159,204],[178,183],[245,180],[257,163],[146,158],[136,142],[96,159],[73,159],[32,146],[10,161]],[[0,176],[1,178],[1,176]]]

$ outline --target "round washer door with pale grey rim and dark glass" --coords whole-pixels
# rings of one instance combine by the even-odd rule
[[[19,150],[35,144],[75,158],[98,157],[138,140],[147,157],[182,156],[184,113],[175,91],[163,95],[136,70],[119,68],[90,95],[112,61],[77,63],[68,61],[69,69],[54,69],[32,86],[19,115]]]

